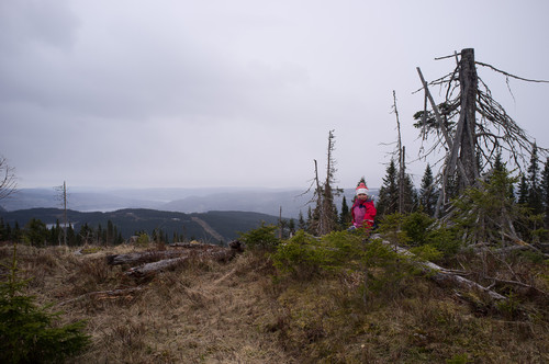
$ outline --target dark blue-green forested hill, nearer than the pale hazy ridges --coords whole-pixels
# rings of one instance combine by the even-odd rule
[[[23,228],[31,219],[40,219],[46,225],[63,223],[63,209],[59,208],[31,208],[14,212],[0,212],[0,217],[4,224],[14,226],[15,223]],[[194,218],[193,218],[194,217]],[[184,214],[177,212],[165,212],[147,208],[125,208],[115,212],[93,212],[82,213],[69,209],[67,219],[72,225],[75,231],[79,231],[85,224],[92,228],[101,226],[105,228],[110,220],[122,234],[124,239],[130,238],[137,231],[146,231],[152,235],[158,229],[170,239],[176,232],[184,239],[198,239],[205,242],[217,242],[215,236],[206,231],[197,221],[197,218],[205,221],[216,234],[221,235],[225,242],[238,237],[238,232],[245,232],[257,228],[261,221],[277,224],[278,217],[245,212],[209,212]]]

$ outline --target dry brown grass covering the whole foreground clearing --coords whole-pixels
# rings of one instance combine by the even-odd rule
[[[29,292],[56,303],[65,321],[88,320],[92,345],[74,363],[549,361],[548,300],[539,295],[522,302],[520,315],[506,316],[480,294],[458,295],[416,276],[367,295],[365,304],[360,274],[280,281],[269,259],[251,253],[137,281],[105,261],[134,248],[18,248],[19,266],[34,278]],[[11,249],[0,246],[0,261]],[[537,266],[517,265],[515,273],[547,281],[547,265]]]

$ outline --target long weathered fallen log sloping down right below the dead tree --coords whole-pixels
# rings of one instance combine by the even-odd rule
[[[372,236],[372,238],[379,238],[381,237],[379,235]],[[382,243],[385,246],[389,246],[393,248],[397,253],[407,255],[407,257],[415,257],[414,253],[410,252],[408,250],[401,248],[399,246],[395,246],[391,243],[390,241],[381,239]],[[429,273],[429,277],[435,280],[438,283],[447,283],[451,285],[457,285],[467,289],[479,289],[481,292],[484,292],[488,294],[490,297],[493,299],[507,299],[505,296],[500,295],[497,292],[491,291],[477,282],[467,280],[462,277],[461,275],[456,274],[456,272],[448,271],[444,269],[442,266],[439,266],[433,262],[429,261],[417,261],[417,264],[427,273]]]

